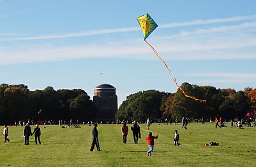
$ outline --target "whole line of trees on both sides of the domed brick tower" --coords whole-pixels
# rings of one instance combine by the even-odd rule
[[[190,119],[204,117],[223,119],[243,118],[247,112],[256,109],[256,88],[216,89],[213,86],[198,86],[183,83],[182,88],[189,95],[202,100],[206,104],[187,98],[183,92],[168,93],[157,90],[139,91],[126,97],[119,106],[116,119],[128,121]],[[41,109],[40,114],[38,114]],[[0,85],[0,124],[13,124],[14,121],[27,119],[69,121],[93,121],[97,109],[93,100],[84,90],[54,90],[48,86],[44,90],[31,91],[24,84]]]

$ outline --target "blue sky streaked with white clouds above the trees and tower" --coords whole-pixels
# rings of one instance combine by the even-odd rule
[[[172,77],[216,88],[256,84],[256,1],[0,0],[0,84],[29,90],[111,84],[118,105],[145,90],[177,91]],[[144,42],[137,17],[158,27]]]

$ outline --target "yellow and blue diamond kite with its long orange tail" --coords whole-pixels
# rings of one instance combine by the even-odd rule
[[[165,67],[167,68],[169,75],[172,76],[172,71],[169,69],[168,65],[165,63],[165,61],[160,57],[160,55],[158,55],[157,51],[153,48],[153,46],[151,46],[151,44],[149,44],[146,39],[147,37],[153,32],[154,29],[156,29],[156,27],[158,27],[158,25],[156,24],[156,22],[154,22],[153,18],[151,18],[149,16],[149,14],[145,14],[142,15],[141,17],[137,18],[137,21],[140,24],[140,28],[143,32],[144,35],[144,41],[147,43],[147,45],[154,51],[154,53],[156,54],[156,56],[163,62],[163,64],[165,65]],[[199,102],[204,102],[206,103],[206,100],[200,100],[199,98],[196,97],[192,97],[188,94],[186,94],[186,92],[183,90],[183,88],[181,88],[181,86],[179,86],[179,84],[176,81],[176,78],[172,79],[174,81],[174,83],[177,85],[177,87],[179,88],[179,90],[181,90],[183,92],[183,94],[188,97],[188,98],[193,98],[194,100],[197,100]]]

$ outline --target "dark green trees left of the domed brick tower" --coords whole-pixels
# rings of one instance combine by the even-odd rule
[[[28,119],[91,121],[96,113],[93,100],[84,90],[56,91],[48,86],[44,90],[30,91],[24,84],[0,85],[0,124],[27,122]]]

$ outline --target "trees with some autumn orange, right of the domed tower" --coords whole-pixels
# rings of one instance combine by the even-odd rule
[[[139,91],[129,95],[117,110],[119,120],[146,121],[151,120],[181,119],[223,119],[245,118],[247,112],[256,109],[256,88],[245,88],[244,91],[234,89],[216,89],[214,86],[198,86],[183,83],[182,88],[189,95],[202,100],[206,104],[187,98],[181,90],[176,93],[166,93],[156,90]]]

